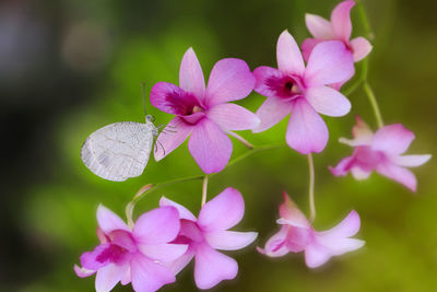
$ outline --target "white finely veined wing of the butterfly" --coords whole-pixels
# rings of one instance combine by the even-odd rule
[[[143,173],[153,144],[153,125],[122,121],[86,138],[81,157],[102,178],[122,182]]]

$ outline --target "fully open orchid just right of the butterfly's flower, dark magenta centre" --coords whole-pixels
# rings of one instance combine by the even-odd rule
[[[344,116],[351,103],[339,91],[327,86],[354,74],[351,54],[342,42],[324,42],[315,47],[305,68],[299,47],[284,31],[277,39],[277,67],[258,67],[255,91],[267,96],[257,115],[264,131],[292,113],[286,131],[287,144],[308,154],[321,152],[328,143],[328,128],[320,114]]]

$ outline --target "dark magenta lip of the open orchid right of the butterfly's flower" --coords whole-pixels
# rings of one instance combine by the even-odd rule
[[[253,75],[256,79],[255,91],[263,96],[276,96],[277,90],[272,86],[272,80],[282,80],[286,75],[272,67],[261,66],[253,70]]]

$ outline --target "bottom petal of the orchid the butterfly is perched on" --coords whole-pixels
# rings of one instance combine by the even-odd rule
[[[221,172],[226,166],[233,144],[214,121],[205,118],[196,125],[188,149],[200,168],[210,174]]]

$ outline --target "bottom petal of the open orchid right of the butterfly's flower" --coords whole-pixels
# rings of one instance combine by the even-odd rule
[[[304,98],[296,100],[286,132],[287,144],[300,154],[319,153],[327,145],[328,137],[327,125],[319,114]]]

